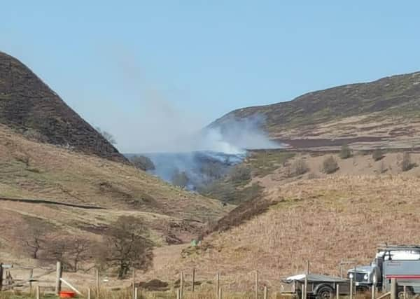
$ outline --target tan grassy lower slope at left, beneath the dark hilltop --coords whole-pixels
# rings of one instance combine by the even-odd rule
[[[158,244],[168,235],[189,242],[204,223],[229,210],[130,165],[29,141],[0,125],[0,226],[10,228],[0,244],[13,246],[16,229],[40,219],[94,238],[121,215],[143,218]]]

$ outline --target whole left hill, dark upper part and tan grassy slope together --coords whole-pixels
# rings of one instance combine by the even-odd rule
[[[155,244],[167,244],[189,242],[230,209],[132,167],[25,65],[0,53],[0,227],[8,228],[0,260],[20,253],[26,227],[100,239],[119,216],[133,215]]]

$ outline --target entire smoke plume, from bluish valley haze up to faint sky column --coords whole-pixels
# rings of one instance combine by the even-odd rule
[[[183,173],[187,187],[195,189],[225,175],[249,149],[281,147],[262,130],[265,118],[260,115],[225,117],[204,127],[209,116],[198,99],[151,84],[134,55],[118,57],[123,60],[117,60],[113,76],[121,83],[118,95],[124,95],[125,104],[120,109],[125,110],[123,117],[109,118],[115,122],[111,131],[122,151],[151,158],[153,174],[165,181]]]

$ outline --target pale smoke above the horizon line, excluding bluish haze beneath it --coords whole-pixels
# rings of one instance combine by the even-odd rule
[[[186,91],[162,88],[151,82],[146,68],[130,50],[118,47],[110,54],[115,62],[111,72],[118,87],[115,92],[123,96],[120,105],[109,109],[111,115],[94,123],[116,136],[120,151],[243,154],[246,149],[280,146],[270,141],[261,129],[265,119],[260,115],[224,118],[220,125],[204,127],[209,115],[206,107],[200,105],[200,99],[193,99]],[[116,117],[117,112],[120,116]]]

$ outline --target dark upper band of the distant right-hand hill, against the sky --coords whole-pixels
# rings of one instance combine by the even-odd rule
[[[290,102],[237,109],[215,123],[259,113],[265,116],[265,128],[270,131],[378,111],[420,116],[420,72],[309,92]]]

